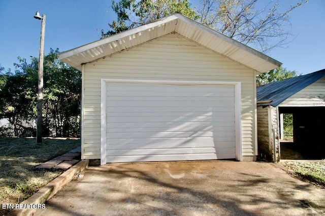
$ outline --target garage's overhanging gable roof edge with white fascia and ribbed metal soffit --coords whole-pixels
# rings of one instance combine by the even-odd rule
[[[257,73],[266,72],[281,65],[280,62],[267,55],[181,14],[174,14],[62,52],[59,54],[59,58],[72,67],[81,70],[83,64],[144,44],[172,32],[176,32],[213,52],[252,68]]]

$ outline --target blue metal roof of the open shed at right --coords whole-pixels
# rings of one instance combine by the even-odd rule
[[[261,85],[256,89],[257,106],[276,107],[323,76],[325,76],[325,69]]]

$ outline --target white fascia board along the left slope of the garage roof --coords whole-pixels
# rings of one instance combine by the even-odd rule
[[[104,39],[96,40],[94,42],[91,42],[90,44],[83,45],[81,47],[78,47],[78,48],[75,48],[75,49],[68,50],[66,52],[60,53],[59,54],[59,59],[69,58],[69,57],[74,56],[76,54],[85,52],[87,50],[90,50],[90,49],[93,49],[93,48],[96,48],[96,47],[99,47],[99,46],[102,46],[102,45],[105,45],[105,44],[109,44],[110,42],[113,42],[113,41],[117,41],[117,40],[119,40],[119,39],[121,39],[123,37],[133,35],[133,34],[137,34],[137,33],[141,32],[141,31],[145,31],[147,29],[150,29],[150,28],[153,28],[153,27],[156,27],[156,26],[159,26],[159,25],[163,25],[163,24],[168,23],[170,21],[176,20],[177,18],[178,17],[176,15],[171,15],[171,16],[168,16],[168,17],[165,17],[165,18],[161,18],[161,19],[159,19],[159,20],[157,20],[155,22],[148,23],[148,24],[136,27],[136,28],[132,28],[132,29],[129,29],[129,30],[117,33],[117,34],[114,34],[112,36],[106,37]]]

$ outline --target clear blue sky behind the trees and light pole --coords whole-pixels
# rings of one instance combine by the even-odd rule
[[[264,0],[262,0],[263,2]],[[195,5],[195,2],[192,5]],[[269,2],[269,0],[266,0]],[[279,1],[286,9],[298,0]],[[0,64],[14,70],[17,57],[39,56],[41,21],[36,11],[46,15],[45,53],[50,48],[67,51],[98,40],[101,29],[116,18],[110,0],[0,0]],[[325,68],[325,1],[309,0],[291,14],[295,39],[288,48],[267,53],[288,70],[307,74]]]

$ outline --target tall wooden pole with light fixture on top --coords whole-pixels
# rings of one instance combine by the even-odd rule
[[[44,36],[45,36],[45,15],[40,16],[36,12],[35,19],[42,20],[41,23],[41,38],[40,38],[40,58],[39,58],[39,81],[37,94],[37,129],[36,142],[42,143],[42,104],[43,104],[43,59],[44,59]]]

